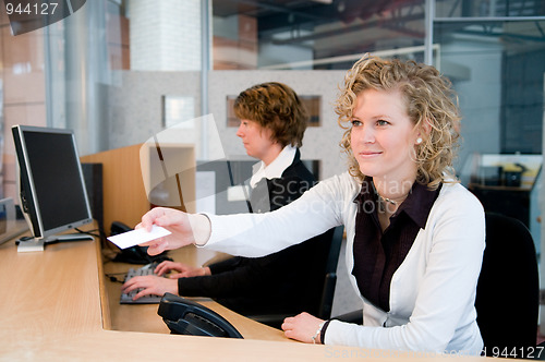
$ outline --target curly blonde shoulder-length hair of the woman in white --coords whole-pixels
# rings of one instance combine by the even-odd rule
[[[347,130],[340,146],[348,155],[350,173],[360,181],[365,177],[352,153],[350,122],[358,95],[366,89],[400,90],[414,126],[424,129],[428,124],[431,132],[422,132],[423,142],[415,146],[416,182],[431,190],[436,190],[441,182],[457,182],[452,161],[461,117],[450,81],[431,65],[370,56],[364,56],[348,71],[335,107],[339,125]]]

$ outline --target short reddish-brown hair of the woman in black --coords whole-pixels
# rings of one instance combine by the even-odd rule
[[[282,147],[303,145],[308,113],[295,90],[283,83],[256,84],[241,92],[234,100],[234,114],[271,130],[272,141]]]

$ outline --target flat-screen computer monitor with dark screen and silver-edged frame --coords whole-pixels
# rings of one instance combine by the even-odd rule
[[[74,234],[56,236],[93,221],[73,132],[14,125],[12,133],[20,202],[34,234],[33,242],[43,245],[78,239]]]

